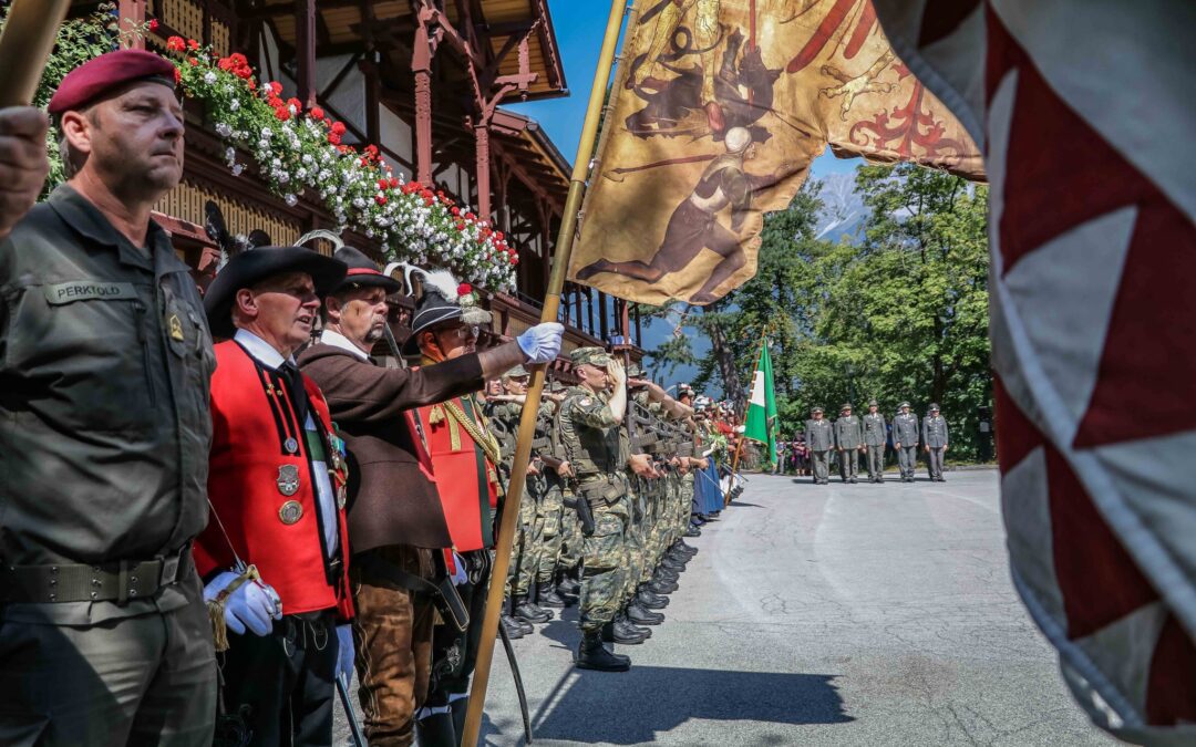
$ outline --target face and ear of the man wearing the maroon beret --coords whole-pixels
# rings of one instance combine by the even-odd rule
[[[81,171],[118,197],[157,200],[183,177],[183,109],[161,84],[133,84],[86,115],[67,112],[63,128],[86,155]]]

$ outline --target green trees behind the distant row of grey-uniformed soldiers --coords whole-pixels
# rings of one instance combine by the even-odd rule
[[[978,409],[991,406],[988,190],[909,164],[861,166],[856,190],[872,216],[855,244],[814,238],[817,184],[765,216],[756,277],[685,320],[716,343],[694,384],[742,402],[767,329],[785,437],[814,405],[834,417],[875,398],[892,417],[902,399],[919,415],[936,402],[952,453],[975,457]],[[689,362],[688,345],[682,336],[654,362]]]

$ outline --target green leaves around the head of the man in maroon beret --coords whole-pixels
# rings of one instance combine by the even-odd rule
[[[4,29],[8,18],[8,8],[0,8],[0,29]],[[112,2],[100,4],[94,12],[81,18],[68,19],[59,27],[59,36],[54,43],[54,51],[50,53],[42,72],[42,81],[37,86],[33,96],[33,105],[45,109],[50,103],[50,97],[57,90],[59,84],[67,73],[79,67],[87,60],[112,51],[117,47],[127,45],[134,36],[144,33],[145,30],[134,31],[132,35],[122,36],[117,17],[116,5]],[[50,176],[45,180],[42,191],[44,198],[50,191],[66,180],[62,170],[62,158],[59,155],[59,131],[51,127],[45,137],[45,147],[50,159]]]

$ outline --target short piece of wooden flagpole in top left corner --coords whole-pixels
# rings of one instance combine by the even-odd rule
[[[13,0],[0,35],[0,106],[33,103],[71,0]]]

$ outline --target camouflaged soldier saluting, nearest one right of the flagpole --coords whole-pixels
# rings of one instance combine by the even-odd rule
[[[623,470],[633,461],[620,425],[627,415],[623,367],[602,348],[579,348],[569,355],[579,386],[561,403],[561,443],[576,474],[578,500],[590,521],[582,527],[584,561],[576,666],[626,672],[631,661],[608,651],[604,629],[614,637],[615,618],[627,583],[627,534],[631,503]],[[608,386],[608,382],[612,386]],[[610,397],[599,394],[611,388]],[[646,460],[636,460],[642,472]]]

